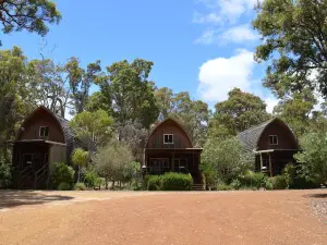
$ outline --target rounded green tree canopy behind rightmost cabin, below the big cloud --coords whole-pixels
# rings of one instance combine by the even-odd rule
[[[257,96],[234,88],[228,94],[229,98],[216,103],[210,132],[216,130],[223,135],[235,135],[253,125],[269,119],[266,103]]]

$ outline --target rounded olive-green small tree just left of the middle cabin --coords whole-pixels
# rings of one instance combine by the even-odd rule
[[[126,144],[121,142],[111,142],[106,147],[98,150],[95,156],[95,168],[98,174],[106,180],[106,188],[108,182],[122,180],[124,170],[133,160],[133,154]]]

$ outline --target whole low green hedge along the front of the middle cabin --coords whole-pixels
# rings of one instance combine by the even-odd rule
[[[148,191],[191,191],[192,183],[192,176],[182,173],[165,173],[145,177]]]

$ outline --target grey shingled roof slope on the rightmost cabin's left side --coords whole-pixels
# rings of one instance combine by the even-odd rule
[[[238,138],[241,140],[241,143],[244,145],[244,147],[247,150],[254,150],[257,148],[257,143],[259,140],[259,137],[262,136],[262,133],[275,120],[278,120],[278,119],[274,118],[274,119],[263,122],[256,126],[250,127],[249,130],[239,133]]]

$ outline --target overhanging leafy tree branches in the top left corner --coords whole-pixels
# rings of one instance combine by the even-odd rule
[[[48,23],[59,23],[61,14],[48,0],[0,0],[0,23],[4,34],[13,30],[46,35]]]

